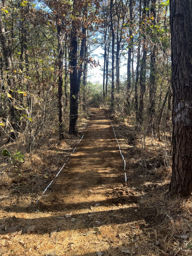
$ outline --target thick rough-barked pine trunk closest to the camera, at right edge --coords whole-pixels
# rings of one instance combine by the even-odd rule
[[[170,1],[173,155],[170,194],[192,192],[192,4]]]

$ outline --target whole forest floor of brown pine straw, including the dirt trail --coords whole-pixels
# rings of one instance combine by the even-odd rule
[[[47,138],[4,173],[0,255],[192,255],[192,199],[167,194],[165,144],[146,138],[144,150],[129,122],[111,122],[91,107],[78,137]]]

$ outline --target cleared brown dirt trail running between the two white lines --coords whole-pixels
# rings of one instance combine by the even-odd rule
[[[113,128],[102,109],[91,108],[90,127],[43,200],[52,210],[106,201],[124,174]],[[75,207],[75,206],[74,206]]]

